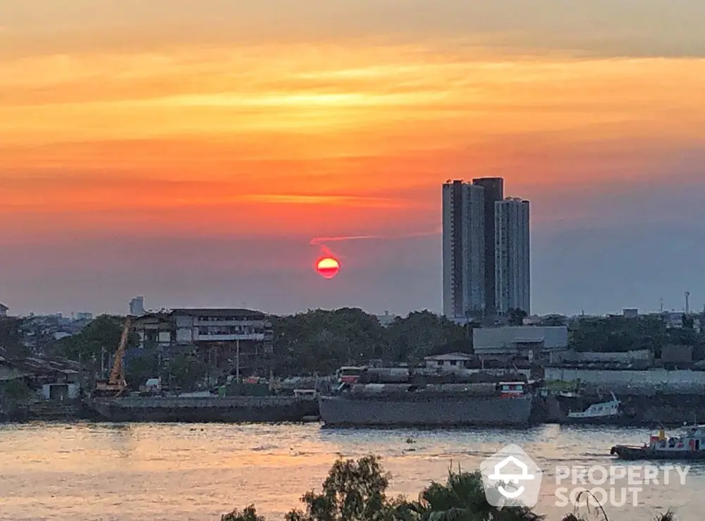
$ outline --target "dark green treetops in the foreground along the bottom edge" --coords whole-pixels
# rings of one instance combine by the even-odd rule
[[[540,521],[543,515],[529,508],[497,508],[486,501],[479,472],[450,471],[446,484],[431,482],[417,501],[389,498],[389,474],[379,458],[338,460],[331,468],[321,493],[307,492],[301,498],[303,510],[291,510],[286,521]],[[599,509],[599,521],[609,521]],[[221,521],[265,521],[255,505],[233,510]],[[563,521],[587,521],[577,513]],[[673,513],[659,515],[654,521],[675,521]]]

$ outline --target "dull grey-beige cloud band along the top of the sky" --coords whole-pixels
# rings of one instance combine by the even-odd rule
[[[37,11],[4,0],[15,28],[5,53],[376,39],[496,51],[565,50],[599,56],[702,56],[699,0],[63,0]],[[458,44],[455,44],[458,47]],[[51,49],[51,50],[50,50]]]

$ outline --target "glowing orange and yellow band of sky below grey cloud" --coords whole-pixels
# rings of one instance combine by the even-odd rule
[[[657,142],[667,156],[703,140],[705,60],[506,56],[441,43],[5,59],[0,190],[11,204],[1,212],[37,231],[183,230],[230,218],[243,233],[369,233],[381,221],[432,231],[436,197],[410,189],[484,173],[517,190],[584,185],[614,178],[612,141]],[[512,160],[586,147],[594,168],[577,176],[547,171],[541,157]]]

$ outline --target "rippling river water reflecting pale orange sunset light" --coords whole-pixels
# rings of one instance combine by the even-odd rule
[[[406,443],[408,437],[415,443]],[[529,431],[328,430],[307,425],[30,424],[0,426],[0,520],[209,521],[255,503],[272,519],[318,489],[343,455],[383,456],[395,493],[417,497],[448,467],[475,470],[484,457],[517,443],[544,469],[539,506],[556,508],[556,465],[608,465],[609,448],[649,431],[544,426]],[[685,486],[646,486],[639,508],[608,508],[617,521],[649,520],[673,508],[701,520],[705,466]]]

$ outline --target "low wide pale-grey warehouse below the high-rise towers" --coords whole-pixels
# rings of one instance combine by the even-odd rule
[[[566,326],[482,327],[472,330],[472,347],[481,360],[513,357],[548,360],[568,349]]]

